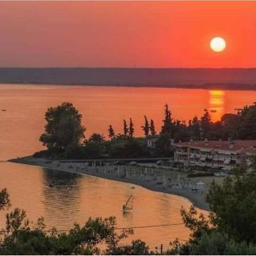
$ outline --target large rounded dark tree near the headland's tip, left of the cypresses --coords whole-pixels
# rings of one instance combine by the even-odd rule
[[[45,131],[40,137],[44,146],[59,150],[80,146],[85,127],[81,125],[82,115],[71,103],[48,108],[45,118]]]

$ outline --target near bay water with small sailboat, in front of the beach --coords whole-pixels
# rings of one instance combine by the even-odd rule
[[[183,197],[137,185],[7,162],[0,163],[0,188],[3,187],[8,189],[13,207],[25,209],[31,221],[44,216],[47,228],[55,226],[59,230],[71,228],[75,221],[84,224],[90,216],[115,216],[120,228],[179,224],[181,205],[190,205]],[[130,195],[134,196],[133,212],[123,215],[122,205]],[[0,213],[1,226],[5,225],[4,214]],[[141,238],[151,249],[161,243],[167,248],[176,237],[187,240],[189,236],[183,224],[134,232],[130,240]]]

